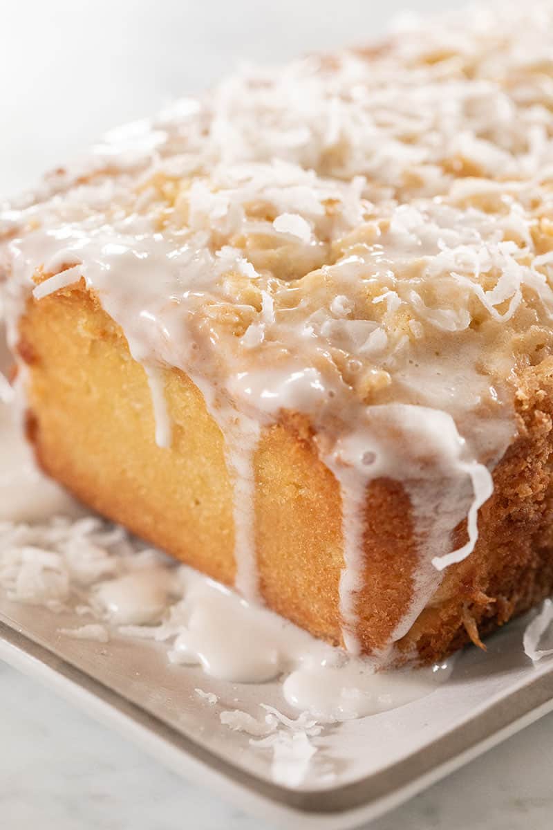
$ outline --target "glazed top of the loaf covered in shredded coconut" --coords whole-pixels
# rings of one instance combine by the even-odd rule
[[[114,130],[0,215],[12,294],[82,277],[223,426],[307,413],[342,491],[429,458],[477,491],[512,434],[483,422],[551,353],[552,26],[551,2],[404,22]],[[382,407],[405,442],[379,466]]]

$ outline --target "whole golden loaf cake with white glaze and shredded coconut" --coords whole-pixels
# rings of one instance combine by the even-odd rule
[[[552,31],[500,4],[245,69],[7,204],[43,470],[355,654],[551,593]]]

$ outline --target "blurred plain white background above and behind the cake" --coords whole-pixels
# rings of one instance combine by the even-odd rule
[[[415,0],[420,12],[458,5]],[[0,194],[240,61],[363,42],[408,0],[0,0]]]

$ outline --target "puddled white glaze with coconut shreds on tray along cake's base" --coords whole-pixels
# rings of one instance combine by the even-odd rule
[[[17,443],[22,437],[0,422],[0,450]],[[7,461],[0,479],[4,504],[17,487],[30,492],[33,473],[27,469],[27,479],[22,476],[17,455],[2,457]],[[62,636],[100,643],[113,636],[146,637],[163,643],[171,662],[201,665],[207,676],[234,683],[282,678],[284,701],[323,722],[403,706],[449,676],[449,669],[375,674],[374,663],[346,657],[220,583],[150,549],[138,552],[140,543],[131,542],[123,530],[109,530],[91,517],[45,524],[52,508],[50,486],[42,480],[27,505],[31,525],[0,524],[0,588],[14,601],[73,610],[75,619],[94,620],[62,627]],[[57,506],[71,507],[71,502]],[[216,702],[210,692],[198,695]],[[239,712],[228,723],[245,729],[244,717]],[[268,735],[274,717],[269,725],[255,725],[254,734]],[[304,719],[299,725],[304,728]]]

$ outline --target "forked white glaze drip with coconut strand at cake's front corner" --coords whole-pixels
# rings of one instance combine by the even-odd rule
[[[507,429],[500,454],[511,436],[512,432]],[[389,477],[405,482],[422,548],[411,606],[390,637],[390,642],[395,642],[409,631],[427,598],[439,586],[437,570],[467,557],[478,539],[476,514],[492,493],[492,477],[483,464],[464,461],[466,452],[465,441],[448,413],[407,404],[369,409],[364,428],[360,426],[356,432],[338,440],[327,463],[345,494],[342,521],[347,568],[342,574],[340,593],[342,614],[350,625],[356,618],[352,607],[355,593],[364,582],[362,517],[370,481]],[[467,492],[467,480],[473,486],[473,493]],[[444,554],[448,560],[442,564],[439,554],[449,549],[450,536],[467,510],[468,542]],[[347,646],[353,653],[358,648],[351,633]]]

